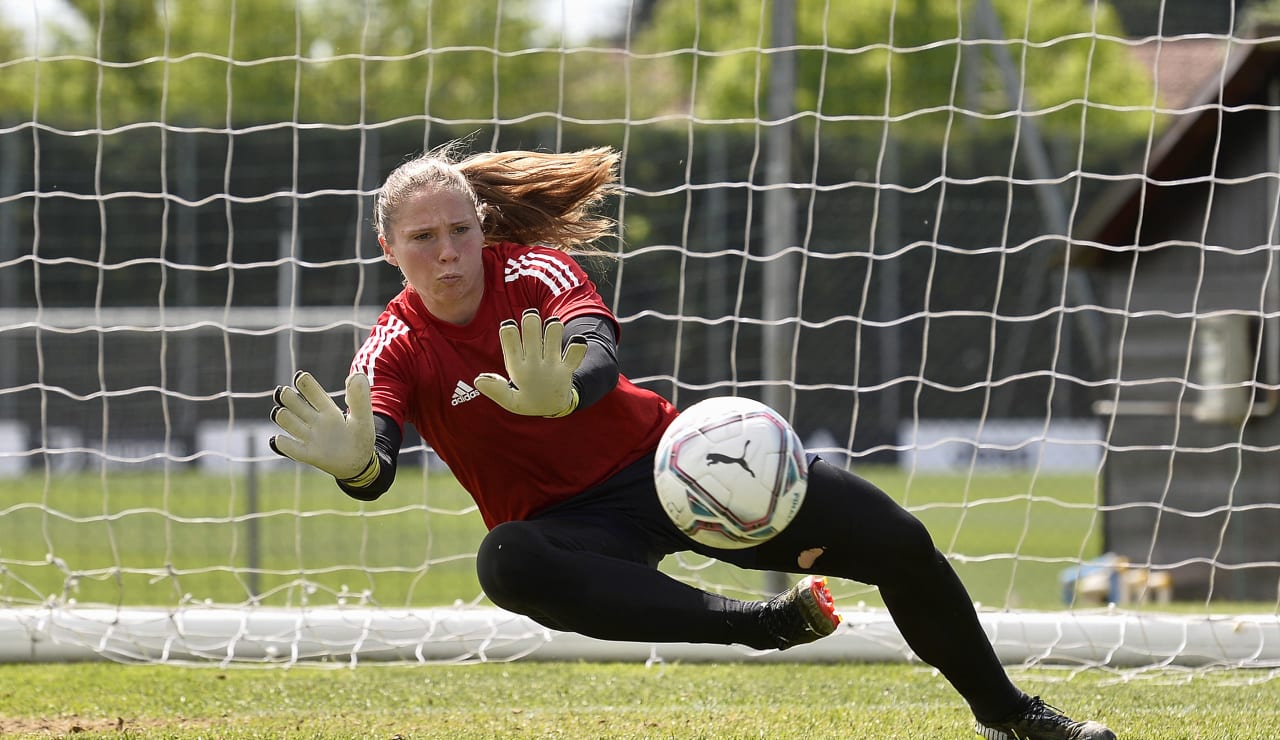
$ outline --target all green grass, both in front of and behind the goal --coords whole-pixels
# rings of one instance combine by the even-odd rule
[[[984,604],[1061,608],[1059,570],[1098,554],[1087,476],[860,472],[924,519]],[[273,606],[483,603],[471,556],[483,533],[448,475],[404,471],[374,504],[311,474],[32,476],[0,498],[0,607],[242,603],[251,591]],[[664,568],[726,593],[764,588],[696,558]],[[859,584],[835,586],[842,604],[878,603]],[[1121,737],[1280,736],[1272,672],[1015,676]],[[970,726],[950,686],[910,664],[0,664],[0,736],[946,739]]]

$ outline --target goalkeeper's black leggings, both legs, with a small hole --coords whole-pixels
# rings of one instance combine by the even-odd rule
[[[820,574],[879,588],[904,639],[979,717],[1023,698],[928,530],[869,481],[814,460],[796,519],[774,539],[722,551],[685,538],[659,508],[646,458],[605,485],[526,521],[495,526],[476,558],[499,607],[605,640],[774,647],[750,603],[657,570],[692,551],[744,568]]]

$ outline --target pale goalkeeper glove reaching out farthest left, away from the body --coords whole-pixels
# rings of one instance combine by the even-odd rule
[[[347,412],[343,414],[320,383],[300,370],[293,375],[293,387],[275,389],[271,421],[285,433],[269,440],[276,454],[317,467],[355,488],[364,488],[378,478],[374,407],[369,376],[364,373],[347,378]]]

